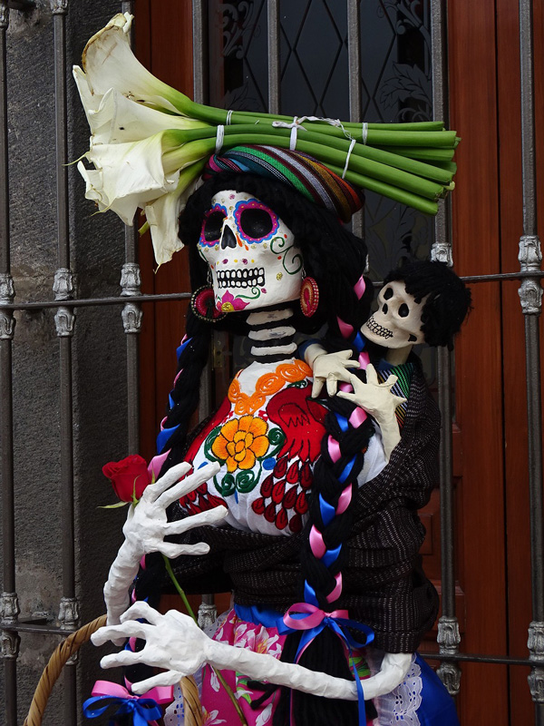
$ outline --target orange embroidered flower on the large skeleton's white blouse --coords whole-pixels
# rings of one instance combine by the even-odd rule
[[[227,461],[229,472],[236,469],[251,469],[257,456],[265,456],[270,446],[268,425],[262,418],[242,416],[232,418],[221,427],[219,437],[211,446],[212,452]]]

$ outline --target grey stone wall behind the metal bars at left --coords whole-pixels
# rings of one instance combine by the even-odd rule
[[[68,3],[67,57],[79,63],[88,38],[119,11],[109,0]],[[53,16],[47,0],[33,12],[10,12],[8,37],[9,163],[12,273],[16,300],[53,299],[56,260]],[[69,155],[87,148],[89,131],[68,69]],[[70,232],[76,297],[118,295],[123,262],[121,222],[92,216],[84,184],[70,169]],[[62,596],[59,431],[59,344],[52,310],[16,314],[14,350],[16,588],[21,618],[54,621]],[[121,306],[79,309],[73,337],[76,580],[85,623],[103,612],[102,583],[120,543],[124,510],[102,465],[127,455],[125,335]],[[22,634],[18,659],[22,723],[57,636]],[[99,653],[83,649],[77,666],[80,701],[97,677]],[[65,722],[62,683],[44,724]],[[0,698],[0,723],[5,723]],[[83,717],[79,718],[83,722]]]

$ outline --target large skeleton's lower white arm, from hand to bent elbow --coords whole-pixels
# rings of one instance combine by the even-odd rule
[[[130,618],[143,618],[140,623]],[[218,643],[203,633],[188,615],[175,610],[161,615],[148,603],[134,603],[121,617],[121,625],[106,626],[92,635],[92,643],[136,637],[146,641],[140,652],[121,651],[102,658],[102,668],[145,662],[167,669],[145,681],[134,683],[132,690],[143,693],[156,685],[172,685],[180,675],[196,672],[205,662],[219,668],[242,672],[250,679],[267,681],[325,698],[356,701],[355,682],[310,671],[296,663],[282,662],[267,653],[235,648]],[[364,698],[375,698],[393,691],[408,672],[410,653],[385,653],[381,670],[363,683]]]

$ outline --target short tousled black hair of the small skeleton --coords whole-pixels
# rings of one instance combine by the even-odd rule
[[[444,262],[413,260],[390,272],[384,284],[402,280],[416,302],[426,298],[422,331],[430,346],[453,349],[453,336],[471,309],[471,290]]]

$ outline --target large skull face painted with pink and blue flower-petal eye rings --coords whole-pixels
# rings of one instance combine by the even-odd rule
[[[298,298],[302,255],[293,232],[244,191],[219,191],[202,223],[199,254],[209,265],[221,312]]]

